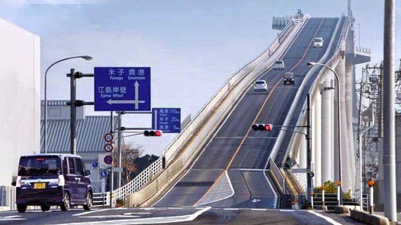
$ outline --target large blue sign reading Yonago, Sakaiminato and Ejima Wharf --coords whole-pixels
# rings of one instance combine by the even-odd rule
[[[95,111],[150,111],[150,67],[95,67]]]

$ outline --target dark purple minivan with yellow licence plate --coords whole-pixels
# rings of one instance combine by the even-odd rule
[[[17,208],[25,212],[28,205],[40,205],[48,211],[59,205],[66,211],[71,205],[92,206],[90,170],[78,155],[37,154],[20,158],[17,177]]]

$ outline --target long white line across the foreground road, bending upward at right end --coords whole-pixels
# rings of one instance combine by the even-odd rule
[[[151,217],[151,218],[131,218],[131,219],[113,219],[113,220],[102,220],[102,221],[86,221],[86,222],[73,222],[63,223],[57,225],[84,225],[84,224],[111,224],[111,225],[129,225],[129,224],[161,224],[161,223],[177,223],[187,222],[194,220],[200,214],[208,211],[212,207],[202,208],[193,214],[188,215],[177,215],[177,216],[163,216],[163,217]],[[55,224],[56,225],[56,224]]]

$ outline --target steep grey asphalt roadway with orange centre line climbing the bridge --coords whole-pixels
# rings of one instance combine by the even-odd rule
[[[322,58],[337,22],[339,18],[309,19],[284,54],[285,71],[271,69],[260,77],[268,83],[267,92],[255,92],[250,87],[244,93],[195,163],[154,206],[196,205],[225,171],[228,171],[234,195],[207,205],[251,208],[275,206],[275,194],[263,169],[279,132],[255,132],[251,126],[255,122],[284,123],[297,89],[310,69],[306,63]],[[323,37],[323,48],[313,48],[314,37]],[[332,55],[334,51],[329,53]],[[295,73],[294,86],[283,85],[282,75],[288,71]],[[280,154],[284,155],[282,152]]]

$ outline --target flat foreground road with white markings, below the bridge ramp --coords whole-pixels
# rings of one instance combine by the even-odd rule
[[[3,224],[360,224],[346,216],[308,210],[210,207],[60,209],[0,212]]]

